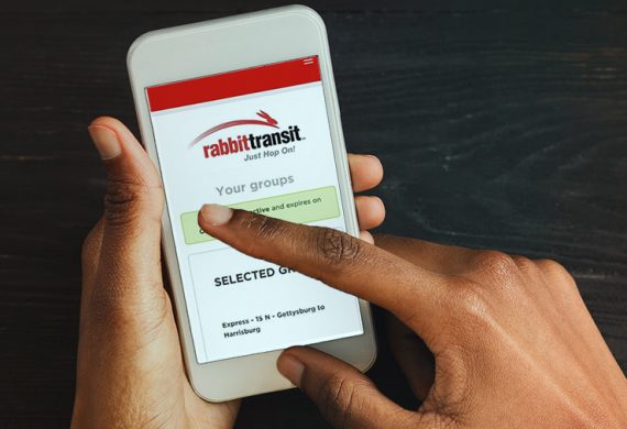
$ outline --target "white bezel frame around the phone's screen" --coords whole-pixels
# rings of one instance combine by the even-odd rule
[[[233,55],[234,52],[245,54]],[[206,55],[198,55],[199,53]],[[322,19],[307,7],[283,7],[158,30],[135,40],[128,54],[129,75],[142,141],[160,174],[145,88],[310,55],[318,55],[319,59],[346,229],[350,234],[358,237],[359,227],[327,32]],[[210,61],[207,59],[208,56]],[[204,364],[197,362],[167,210],[164,210],[162,223],[162,243],[184,360],[196,393],[206,400],[223,402],[294,387],[276,370],[280,350]],[[360,311],[364,328],[362,336],[312,346],[366,371],[376,358],[376,343],[367,301],[360,299]]]

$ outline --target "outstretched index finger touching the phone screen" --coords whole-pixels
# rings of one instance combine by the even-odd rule
[[[439,324],[447,276],[341,231],[206,205],[198,223],[250,256],[293,268],[385,307],[418,333]]]

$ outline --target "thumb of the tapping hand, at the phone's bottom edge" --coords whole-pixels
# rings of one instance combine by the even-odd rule
[[[277,361],[278,371],[316,403],[339,428],[416,427],[408,411],[351,365],[310,348],[292,348]]]

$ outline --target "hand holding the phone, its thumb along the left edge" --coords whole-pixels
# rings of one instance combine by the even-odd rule
[[[240,403],[210,404],[188,383],[162,279],[157,172],[131,132],[100,118],[89,132],[109,178],[105,216],[85,241],[73,428],[232,427]],[[349,157],[353,188],[376,186],[372,156]],[[376,197],[355,198],[362,229],[378,226]],[[365,240],[372,237],[362,231]]]

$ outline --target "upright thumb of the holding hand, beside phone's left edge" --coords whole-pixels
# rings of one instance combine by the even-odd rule
[[[90,296],[101,311],[154,302],[161,279],[161,216],[157,172],[133,134],[113,118],[98,118],[89,134],[107,170],[102,241]],[[151,296],[152,295],[152,296]],[[144,302],[144,304],[142,304]],[[145,307],[142,307],[145,309]]]

